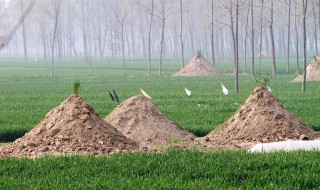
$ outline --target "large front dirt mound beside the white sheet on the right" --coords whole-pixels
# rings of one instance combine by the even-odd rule
[[[270,92],[256,88],[228,121],[201,141],[207,148],[249,148],[258,142],[319,137]]]

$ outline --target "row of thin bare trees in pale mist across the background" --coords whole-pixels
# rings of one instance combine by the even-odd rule
[[[4,57],[44,59],[159,59],[191,57],[201,50],[213,65],[220,58],[239,59],[243,72],[260,72],[261,59],[318,54],[320,3],[317,0],[37,0],[31,14],[24,12],[34,0],[1,3],[2,38],[12,35]],[[11,34],[22,18],[18,32]],[[305,25],[304,25],[305,23]],[[305,28],[304,28],[305,26]],[[304,34],[306,37],[304,38]],[[306,42],[304,44],[303,42]],[[249,60],[250,59],[250,60]],[[256,63],[257,62],[257,63]],[[258,65],[258,68],[255,68]]]

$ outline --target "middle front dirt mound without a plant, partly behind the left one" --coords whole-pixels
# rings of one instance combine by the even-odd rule
[[[106,118],[125,136],[142,144],[168,144],[194,137],[166,118],[154,103],[144,96],[134,96],[117,106]]]

